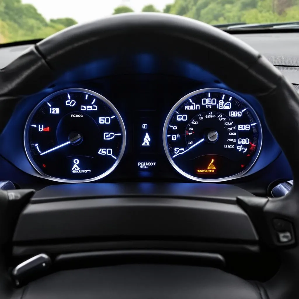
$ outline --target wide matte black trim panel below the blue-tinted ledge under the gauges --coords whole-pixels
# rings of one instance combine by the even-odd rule
[[[248,215],[236,204],[141,196],[28,204],[19,216],[13,241],[141,236],[252,244],[258,240]]]

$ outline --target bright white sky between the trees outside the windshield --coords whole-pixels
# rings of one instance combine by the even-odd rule
[[[23,0],[33,4],[46,19],[71,17],[78,23],[110,16],[115,7],[125,4],[139,12],[147,4],[163,10],[174,0]]]

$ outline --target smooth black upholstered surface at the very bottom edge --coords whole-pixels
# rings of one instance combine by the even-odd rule
[[[266,299],[254,284],[218,269],[122,265],[61,271],[30,283],[22,299]]]

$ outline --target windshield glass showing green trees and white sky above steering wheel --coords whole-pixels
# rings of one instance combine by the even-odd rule
[[[0,43],[42,39],[77,23],[133,11],[211,25],[280,23],[299,21],[299,0],[0,0]]]

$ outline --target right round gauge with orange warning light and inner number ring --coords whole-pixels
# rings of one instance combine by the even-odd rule
[[[262,129],[251,106],[230,91],[187,94],[169,112],[163,129],[168,160],[196,181],[225,181],[246,173],[262,146]]]

